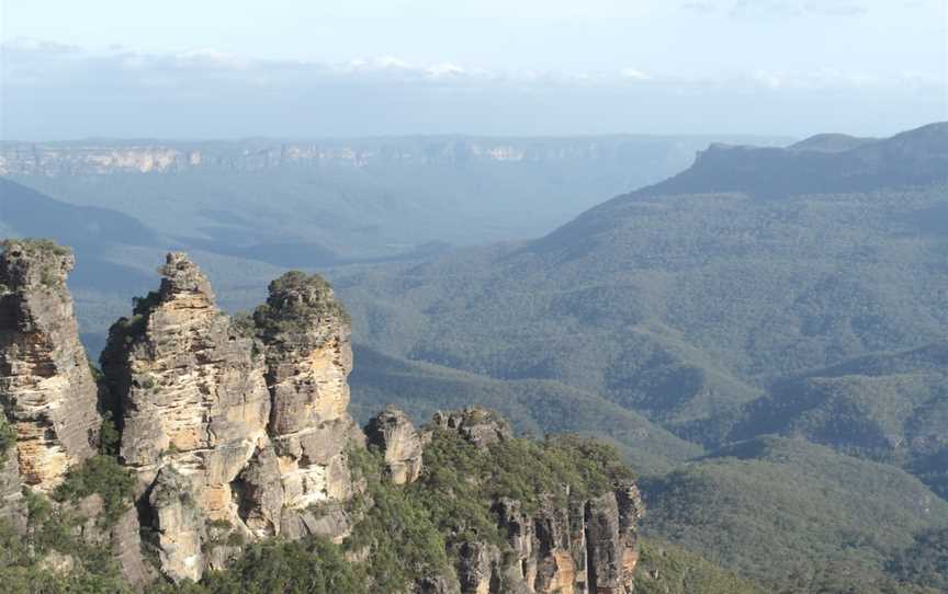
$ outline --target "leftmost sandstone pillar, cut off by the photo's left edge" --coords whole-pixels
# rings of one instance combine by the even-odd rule
[[[101,423],[66,287],[74,264],[42,240],[7,241],[0,255],[0,404],[16,433],[20,477],[40,492],[94,454]]]

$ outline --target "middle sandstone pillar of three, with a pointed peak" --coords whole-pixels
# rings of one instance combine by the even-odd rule
[[[138,473],[142,492],[173,467],[208,519],[245,527],[232,483],[269,447],[263,359],[184,254],[168,254],[161,273],[160,289],[112,327],[102,357],[119,398],[121,458]]]

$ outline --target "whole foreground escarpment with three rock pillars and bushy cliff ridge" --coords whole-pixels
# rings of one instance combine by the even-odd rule
[[[111,328],[97,386],[71,265],[42,242],[0,256],[0,532],[60,530],[24,549],[36,571],[202,582],[302,542],[335,551],[327,567],[365,594],[632,591],[642,505],[616,454],[521,439],[481,409],[416,427],[388,408],[363,434],[349,319],[321,277],[286,273],[232,318],[169,253],[158,289]]]

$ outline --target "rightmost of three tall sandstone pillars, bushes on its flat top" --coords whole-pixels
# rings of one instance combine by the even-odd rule
[[[326,281],[291,272],[270,284],[253,321],[266,351],[284,524],[308,530],[313,518],[294,519],[289,512],[312,515],[307,510],[314,505],[349,499],[346,447],[364,439],[348,413],[349,317]]]

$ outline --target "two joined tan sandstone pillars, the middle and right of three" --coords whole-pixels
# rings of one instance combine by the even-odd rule
[[[241,324],[184,254],[160,272],[159,290],[112,327],[102,367],[162,571],[219,568],[229,534],[348,534],[346,447],[361,432],[347,412],[349,321],[328,284],[284,275]]]

